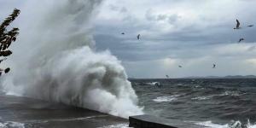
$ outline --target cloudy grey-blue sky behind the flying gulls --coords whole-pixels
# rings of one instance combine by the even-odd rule
[[[93,21],[96,50],[110,50],[130,78],[256,75],[255,5],[254,0],[104,0]],[[21,6],[19,0],[0,1],[1,20]],[[233,29],[236,19],[241,30]],[[239,38],[245,41],[238,44]]]

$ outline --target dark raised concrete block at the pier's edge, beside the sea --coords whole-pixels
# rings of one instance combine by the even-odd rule
[[[178,119],[162,119],[153,115],[129,117],[129,126],[133,128],[198,128],[199,125],[185,123]]]

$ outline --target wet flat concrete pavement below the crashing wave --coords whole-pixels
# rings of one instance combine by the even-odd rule
[[[7,122],[19,122],[26,128],[95,128],[128,125],[127,119],[61,103],[5,95],[0,95],[0,101],[2,125]]]

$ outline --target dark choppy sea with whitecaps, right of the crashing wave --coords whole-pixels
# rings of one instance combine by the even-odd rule
[[[255,126],[256,79],[132,79],[131,83],[146,113],[210,127]]]

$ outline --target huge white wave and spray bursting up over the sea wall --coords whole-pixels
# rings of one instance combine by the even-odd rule
[[[142,114],[121,62],[109,51],[94,50],[90,20],[101,2],[27,0],[20,14],[19,44],[9,63],[13,72],[3,82],[7,94],[124,118]]]

